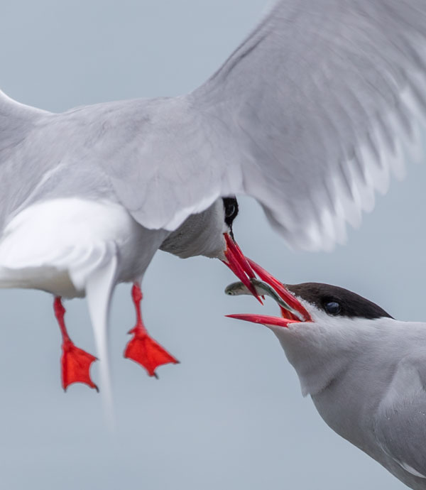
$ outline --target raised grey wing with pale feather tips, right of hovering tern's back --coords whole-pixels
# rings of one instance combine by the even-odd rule
[[[403,172],[425,121],[425,38],[424,0],[284,0],[192,94],[236,147],[232,190],[293,246],[344,239]]]

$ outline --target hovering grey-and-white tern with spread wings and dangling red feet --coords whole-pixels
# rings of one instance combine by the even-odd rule
[[[190,94],[53,114],[0,93],[0,287],[54,295],[62,386],[97,388],[61,298],[87,296],[109,391],[117,283],[133,283],[136,307],[125,356],[151,375],[177,361],[141,317],[158,249],[219,258],[252,288],[235,195],[294,248],[344,242],[420,142],[425,45],[424,0],[282,0]]]

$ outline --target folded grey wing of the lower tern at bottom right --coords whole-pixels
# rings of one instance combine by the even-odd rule
[[[405,471],[426,479],[425,356],[410,356],[398,364],[374,422],[383,452]]]

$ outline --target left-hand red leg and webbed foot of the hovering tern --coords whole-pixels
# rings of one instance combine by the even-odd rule
[[[58,320],[62,334],[62,356],[60,358],[62,388],[64,388],[64,391],[67,391],[67,387],[72,383],[84,383],[90,386],[90,388],[99,391],[98,387],[90,378],[90,366],[97,358],[75,347],[70,339],[67,328],[65,327],[65,308],[62,305],[60,296],[56,296],[55,302],[53,303],[53,310],[55,310],[55,317]]]

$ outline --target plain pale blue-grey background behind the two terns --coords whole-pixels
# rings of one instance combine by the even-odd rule
[[[266,0],[2,0],[0,87],[51,111],[188,92],[256,22]],[[28,163],[31,165],[31,163]],[[261,209],[241,199],[236,239],[288,283],[334,283],[401,320],[425,320],[425,166],[408,165],[349,244],[332,254],[290,252]],[[52,298],[0,293],[1,489],[402,489],[329,430],[302,398],[293,369],[264,327],[224,318],[256,312],[228,298],[219,262],[159,253],[144,283],[148,329],[182,364],[160,380],[122,358],[133,327],[130,286],[116,290],[112,354],[117,430],[101,397],[60,387]],[[94,352],[84,300],[67,325]],[[266,310],[276,309],[269,302]],[[97,366],[92,369],[97,380]]]

